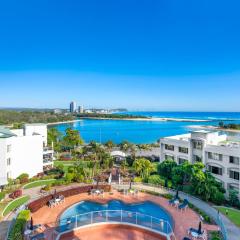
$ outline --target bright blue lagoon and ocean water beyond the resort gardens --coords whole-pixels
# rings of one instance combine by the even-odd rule
[[[112,140],[120,143],[127,140],[133,143],[154,143],[161,137],[183,134],[192,131],[192,125],[218,125],[219,121],[225,123],[240,123],[240,113],[206,113],[206,112],[127,112],[153,117],[171,117],[203,119],[208,122],[150,122],[125,120],[82,120],[80,122],[59,124],[55,127],[61,132],[73,127],[80,131],[85,142],[91,140],[106,142]],[[236,135],[231,133],[232,135]]]

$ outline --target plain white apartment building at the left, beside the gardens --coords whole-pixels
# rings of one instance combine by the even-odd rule
[[[47,147],[47,125],[26,124],[23,129],[0,128],[0,186],[22,173],[30,177],[53,166]]]

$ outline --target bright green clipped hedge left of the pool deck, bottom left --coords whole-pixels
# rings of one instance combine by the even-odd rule
[[[22,210],[9,233],[8,240],[23,240],[23,230],[27,221],[30,219],[30,211]]]

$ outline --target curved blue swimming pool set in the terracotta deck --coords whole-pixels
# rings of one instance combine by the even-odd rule
[[[170,233],[173,228],[171,215],[151,201],[126,204],[111,200],[106,204],[82,201],[65,210],[59,219],[59,232],[99,222],[125,222]]]

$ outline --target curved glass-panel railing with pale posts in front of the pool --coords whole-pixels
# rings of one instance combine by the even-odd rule
[[[134,225],[157,232],[160,235],[166,236],[167,239],[170,239],[170,237],[175,239],[172,227],[168,221],[139,212],[125,210],[94,211],[66,219],[60,219],[58,226],[55,228],[55,231],[58,233],[57,239],[60,238],[62,234],[74,229],[100,223],[123,223]]]

